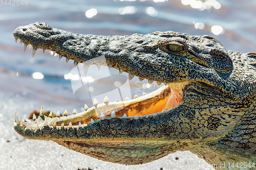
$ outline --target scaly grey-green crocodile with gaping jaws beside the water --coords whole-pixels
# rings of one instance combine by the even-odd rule
[[[151,162],[190,151],[216,169],[255,168],[256,54],[227,51],[211,36],[154,32],[126,36],[73,34],[44,22],[20,26],[15,41],[50,50],[59,60],[108,66],[157,90],[63,116],[19,120],[15,131],[52,140],[70,150],[119,164]],[[231,166],[233,164],[233,166]],[[224,165],[224,166],[223,166]],[[236,166],[237,165],[237,166]]]

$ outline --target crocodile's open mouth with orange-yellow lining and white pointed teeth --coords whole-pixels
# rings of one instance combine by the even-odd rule
[[[18,38],[15,37],[17,42]],[[23,44],[22,40],[20,43]],[[30,44],[24,43],[24,51]],[[52,49],[48,49],[52,51]],[[43,50],[45,51],[45,50]],[[33,49],[32,54],[34,56],[36,50]],[[53,51],[53,54],[56,52]],[[62,55],[59,56],[61,59]],[[69,60],[67,58],[67,60]],[[77,63],[74,62],[74,67]],[[116,65],[112,66],[114,68],[118,67]],[[119,74],[121,72],[119,71]],[[129,77],[134,77],[129,75]],[[131,78],[129,78],[131,79]],[[152,83],[152,82],[151,82]],[[161,83],[158,83],[161,84]],[[15,116],[15,122],[17,124],[24,123],[26,121],[26,127],[29,129],[38,129],[42,126],[53,126],[53,127],[70,127],[70,126],[87,126],[87,124],[94,124],[95,122],[108,118],[128,118],[128,119],[142,119],[151,116],[157,116],[159,114],[165,113],[165,111],[175,108],[182,103],[184,87],[188,82],[183,83],[169,83],[161,86],[157,90],[144,94],[141,96],[135,96],[134,99],[125,99],[125,101],[110,102],[108,97],[105,97],[103,103],[98,103],[94,100],[93,107],[88,108],[87,105],[84,107],[84,111],[76,113],[74,110],[73,115],[68,115],[67,111],[63,116],[59,115],[53,116],[52,113],[48,115],[48,118],[44,116],[44,108],[40,109],[39,116],[33,115],[33,122],[27,122],[26,118],[24,121],[19,121],[17,115]],[[41,117],[42,116],[42,117]]]

